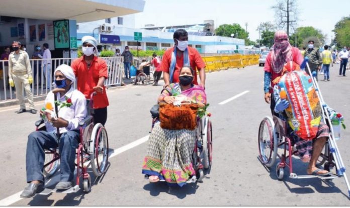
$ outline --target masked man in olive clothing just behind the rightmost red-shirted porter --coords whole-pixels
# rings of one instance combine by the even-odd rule
[[[304,57],[308,57],[309,58],[309,67],[310,67],[310,71],[312,72],[316,72],[316,80],[318,81],[317,78],[317,72],[321,69],[322,66],[322,56],[320,55],[320,50],[318,48],[314,47],[314,41],[313,40],[309,40],[308,42],[308,49],[305,51]],[[309,70],[305,70],[306,73],[309,74]],[[309,74],[311,76],[311,74]]]

